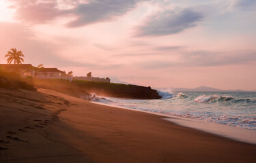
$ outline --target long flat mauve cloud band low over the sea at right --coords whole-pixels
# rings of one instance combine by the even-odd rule
[[[143,69],[168,69],[171,67],[218,67],[222,65],[246,65],[256,62],[256,51],[229,51],[217,52],[209,50],[186,51],[177,49],[174,52],[161,53],[128,53],[115,55],[119,58],[140,58],[143,56],[147,61],[136,62],[134,65],[142,67]],[[158,58],[150,58],[158,56]],[[176,58],[173,60],[173,58]],[[134,59],[136,60],[136,59]]]

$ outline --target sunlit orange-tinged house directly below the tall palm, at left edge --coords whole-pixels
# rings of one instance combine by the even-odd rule
[[[10,72],[14,71],[22,77],[35,75],[35,71],[31,67],[33,67],[31,64],[0,64],[0,69]]]

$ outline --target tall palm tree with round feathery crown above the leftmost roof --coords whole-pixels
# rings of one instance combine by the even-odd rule
[[[12,61],[14,61],[14,64],[21,64],[21,62],[24,62],[24,55],[21,50],[16,50],[16,48],[12,48],[11,50],[8,51],[8,54],[5,55],[7,58],[8,64],[11,64]]]

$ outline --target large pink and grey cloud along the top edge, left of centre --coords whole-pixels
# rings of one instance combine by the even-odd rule
[[[137,3],[146,0],[89,0],[57,1],[28,0],[14,1],[16,19],[31,24],[44,24],[55,18],[73,16],[74,20],[67,23],[70,28],[85,26],[96,22],[113,20],[136,7]],[[70,9],[63,9],[63,6]],[[69,6],[69,7],[68,7]]]

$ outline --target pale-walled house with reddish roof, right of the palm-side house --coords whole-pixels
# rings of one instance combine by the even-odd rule
[[[64,71],[60,71],[57,68],[44,68],[40,71],[38,71],[38,74],[36,77],[38,78],[61,78],[66,73]]]

